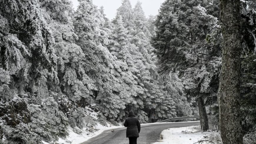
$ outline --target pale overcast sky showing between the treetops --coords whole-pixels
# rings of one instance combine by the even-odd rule
[[[74,5],[74,9],[77,9],[78,1],[77,0],[71,0]],[[138,0],[130,0],[132,6],[137,3]],[[142,8],[145,12],[146,16],[149,15],[157,15],[158,9],[160,8],[160,5],[165,0],[139,0],[142,2]],[[105,14],[109,19],[113,19],[116,15],[116,11],[121,6],[122,0],[93,0],[93,3],[97,5],[98,7],[104,6]]]

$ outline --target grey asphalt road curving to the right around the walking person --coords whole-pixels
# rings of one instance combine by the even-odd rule
[[[200,125],[199,121],[182,123],[155,123],[150,125],[141,125],[141,131],[137,144],[150,144],[160,139],[160,133],[168,128],[179,128],[192,125]],[[114,130],[114,132],[112,132]],[[105,130],[100,135],[91,138],[80,144],[129,144],[126,138],[126,128],[116,128]]]

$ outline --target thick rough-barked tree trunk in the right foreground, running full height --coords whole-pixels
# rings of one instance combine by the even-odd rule
[[[220,130],[223,144],[242,144],[240,67],[242,33],[240,0],[220,0],[222,71],[219,84]]]

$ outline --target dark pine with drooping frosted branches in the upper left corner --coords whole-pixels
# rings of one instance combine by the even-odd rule
[[[54,71],[56,65],[54,40],[38,7],[37,1],[4,1],[0,11],[1,67],[9,70],[14,63],[21,69],[25,58],[31,63],[28,67],[31,78],[40,78],[45,69]]]

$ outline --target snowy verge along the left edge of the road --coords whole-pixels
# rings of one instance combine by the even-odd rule
[[[72,131],[72,128],[68,128],[68,132],[69,132],[69,136],[67,136],[66,139],[62,139],[62,138],[59,138],[59,140],[57,141],[57,143],[60,143],[60,144],[79,144],[79,143],[82,143],[90,138],[93,138],[99,134],[101,134],[104,130],[111,130],[111,129],[114,129],[114,128],[119,128],[121,126],[112,126],[112,125],[108,125],[107,126],[103,126],[103,125],[95,125],[94,126],[97,131],[95,132],[89,132],[87,130],[83,130],[82,133],[79,135],[77,133],[74,133]],[[44,141],[42,141],[43,144],[50,144],[50,143],[46,143]]]

